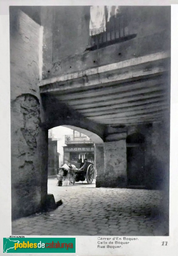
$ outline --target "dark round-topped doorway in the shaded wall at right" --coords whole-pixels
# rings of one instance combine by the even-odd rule
[[[127,185],[145,186],[145,140],[140,133],[127,136]]]

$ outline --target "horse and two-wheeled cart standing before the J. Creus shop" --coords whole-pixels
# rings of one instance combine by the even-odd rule
[[[67,167],[67,166],[68,167]],[[78,167],[78,168],[77,168]],[[93,182],[94,178],[94,164],[88,161],[84,163],[74,163],[68,161],[68,164],[64,164],[58,174],[58,186],[62,186],[62,180],[66,179],[74,185],[75,182],[87,180],[88,184]]]

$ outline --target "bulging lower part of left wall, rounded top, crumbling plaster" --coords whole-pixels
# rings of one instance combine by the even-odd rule
[[[11,103],[12,219],[41,210],[47,195],[47,130],[41,127],[37,97],[22,94]]]

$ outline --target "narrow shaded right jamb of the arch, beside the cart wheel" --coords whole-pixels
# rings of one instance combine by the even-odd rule
[[[104,165],[103,144],[95,144],[95,170],[96,170],[96,188],[104,187],[105,165]]]

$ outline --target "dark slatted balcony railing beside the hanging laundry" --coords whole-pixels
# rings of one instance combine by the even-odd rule
[[[86,51],[94,51],[136,37],[137,34],[130,33],[128,23],[126,13],[119,13],[116,17],[112,16],[106,23],[105,32],[91,36],[90,47]]]

